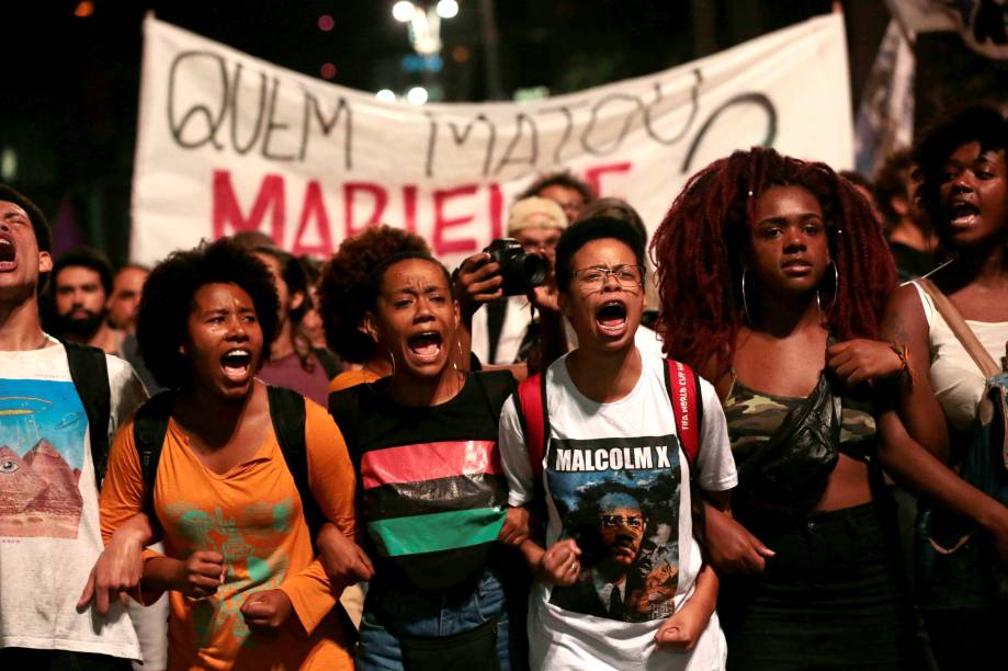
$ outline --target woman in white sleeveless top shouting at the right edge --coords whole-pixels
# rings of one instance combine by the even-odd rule
[[[1008,343],[1008,121],[986,106],[954,111],[921,134],[914,160],[922,174],[920,204],[950,261],[893,294],[885,334],[907,346],[919,383],[899,398],[907,428],[935,456],[958,466],[971,444],[985,378],[1003,368]],[[949,308],[939,311],[942,296],[988,355],[989,371],[962,345],[954,322],[947,320]],[[990,443],[1001,460],[1000,445]],[[1000,470],[1001,492],[1004,478]],[[950,538],[932,535],[948,547],[962,531]],[[995,539],[998,558],[1008,560],[1008,537],[1000,533]],[[966,544],[961,554],[975,545]],[[1004,590],[995,589],[989,571],[969,576],[958,581],[938,571],[916,576],[917,602],[942,669],[984,668],[1001,655],[1008,626]]]

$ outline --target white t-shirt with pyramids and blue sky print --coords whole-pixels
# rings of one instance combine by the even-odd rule
[[[129,364],[105,361],[111,434],[147,394]],[[139,659],[117,601],[104,618],[77,612],[101,550],[88,417],[66,349],[0,352],[0,647]]]

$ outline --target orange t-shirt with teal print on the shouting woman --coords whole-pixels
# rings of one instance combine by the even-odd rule
[[[310,400],[305,419],[309,486],[322,513],[352,538],[354,477],[343,437]],[[131,420],[112,445],[101,492],[106,542],[143,510],[144,490]],[[169,557],[184,559],[196,550],[225,557],[224,583],[215,595],[193,600],[171,592],[169,669],[353,669],[349,637],[331,612],[339,592],[313,561],[301,497],[272,431],[252,458],[218,475],[169,421],[154,507]],[[256,632],[245,624],[245,600],[272,589],[290,598],[291,617],[301,621],[307,638],[286,626]]]

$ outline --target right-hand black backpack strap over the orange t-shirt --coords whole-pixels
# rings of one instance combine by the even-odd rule
[[[308,482],[308,448],[305,445],[305,397],[285,387],[267,387],[270,399],[270,418],[276,442],[287,463],[287,470],[294,478],[294,486],[301,497],[301,509],[308,524],[312,536],[312,548],[315,549],[315,537],[326,521],[322,511],[312,493]]]

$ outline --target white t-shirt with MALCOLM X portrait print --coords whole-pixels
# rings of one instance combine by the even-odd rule
[[[691,652],[658,648],[654,641],[662,621],[692,593],[702,560],[692,535],[689,465],[676,437],[666,363],[646,353],[641,359],[633,390],[611,403],[598,403],[577,389],[566,356],[546,372],[546,544],[574,537],[584,568],[573,587],[534,585],[529,606],[533,669],[724,668],[725,639],[716,614]],[[701,380],[701,396],[698,481],[705,490],[724,491],[737,484],[724,412],[706,380]],[[501,413],[500,452],[508,502],[532,502],[535,484],[513,398]],[[624,555],[622,562],[607,543],[622,547],[615,553]],[[633,556],[628,567],[627,556]]]

